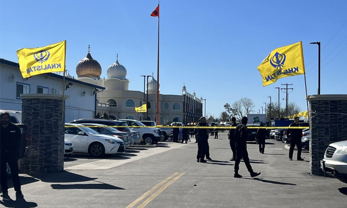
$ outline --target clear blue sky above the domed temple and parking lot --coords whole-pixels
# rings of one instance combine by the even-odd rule
[[[129,89],[142,91],[140,75],[154,72],[156,77],[158,18],[150,14],[157,4],[156,0],[1,1],[0,57],[17,62],[17,49],[66,40],[66,67],[76,77],[76,64],[90,45],[102,77],[107,77],[118,53],[119,63],[127,69]],[[275,87],[290,83],[294,91],[289,101],[305,110],[303,75],[263,87],[257,66],[272,50],[302,41],[308,94],[316,94],[318,49],[309,43],[320,41],[321,94],[346,94],[346,8],[346,0],[161,0],[160,91],[179,95],[185,83],[188,91],[207,99],[206,111],[218,116],[224,104],[243,97],[253,100],[256,112],[269,103],[268,96],[278,100]],[[281,93],[283,105],[284,97]]]

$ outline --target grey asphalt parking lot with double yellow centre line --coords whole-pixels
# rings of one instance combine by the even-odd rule
[[[212,161],[196,162],[195,139],[165,142],[157,148],[130,148],[125,154],[95,159],[65,158],[58,173],[21,174],[24,200],[1,201],[10,208],[317,208],[347,207],[347,184],[309,174],[305,161],[289,161],[284,144],[268,140],[265,154],[248,144],[254,171],[241,162],[233,178],[226,133],[209,139]],[[296,152],[294,152],[296,154]],[[11,181],[9,180],[11,184]],[[10,186],[12,187],[12,186]],[[9,189],[14,198],[14,190]]]

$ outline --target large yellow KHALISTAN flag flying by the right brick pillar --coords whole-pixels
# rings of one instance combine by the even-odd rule
[[[301,41],[272,51],[258,66],[258,70],[263,78],[263,86],[275,83],[284,77],[304,74]]]

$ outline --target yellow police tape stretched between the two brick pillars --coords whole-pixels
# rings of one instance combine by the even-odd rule
[[[65,125],[65,128],[74,128],[74,127],[113,127],[113,128],[183,128],[183,129],[235,129],[236,126],[84,126],[84,125]],[[295,127],[289,127],[289,126],[277,126],[277,127],[266,127],[266,126],[247,126],[248,129],[309,129],[309,127],[302,127],[302,126],[295,126]]]

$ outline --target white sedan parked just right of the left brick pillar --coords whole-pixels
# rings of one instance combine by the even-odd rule
[[[74,153],[89,153],[95,157],[105,154],[124,153],[124,142],[113,136],[99,134],[88,127],[77,127],[78,124],[65,123],[65,139],[73,144]]]

